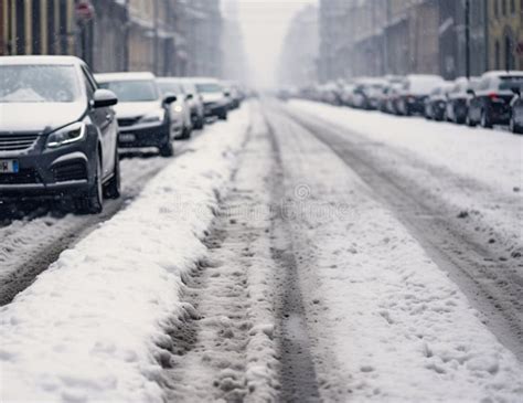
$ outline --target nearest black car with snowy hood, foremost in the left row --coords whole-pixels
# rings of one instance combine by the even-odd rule
[[[118,198],[117,102],[77,57],[0,57],[0,200]]]

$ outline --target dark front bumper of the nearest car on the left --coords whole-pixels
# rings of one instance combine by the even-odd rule
[[[19,172],[0,173],[0,199],[61,198],[85,194],[95,182],[96,141],[88,138],[57,149],[45,149],[45,136],[20,153],[1,152],[0,160],[17,160]]]

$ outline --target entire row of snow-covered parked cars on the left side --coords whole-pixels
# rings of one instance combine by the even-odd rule
[[[95,75],[73,56],[0,57],[0,203],[71,199],[99,213],[120,195],[119,150],[189,138],[209,118],[227,119],[242,88],[216,78]]]

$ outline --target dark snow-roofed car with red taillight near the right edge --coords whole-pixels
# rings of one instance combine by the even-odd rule
[[[514,98],[512,88],[521,86],[523,72],[488,72],[481,76],[477,91],[469,91],[472,96],[469,103],[467,124],[480,124],[484,128],[493,125],[509,125],[511,102]]]

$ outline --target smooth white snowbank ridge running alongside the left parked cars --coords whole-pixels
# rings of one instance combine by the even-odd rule
[[[192,152],[1,308],[2,401],[162,401],[154,343],[183,315],[181,275],[206,252],[248,120],[244,108],[206,129]]]

